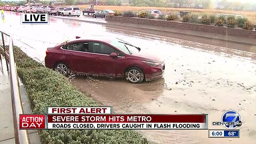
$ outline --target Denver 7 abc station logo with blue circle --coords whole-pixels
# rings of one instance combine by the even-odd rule
[[[236,129],[242,125],[241,116],[235,110],[226,111],[222,117],[222,122],[212,122],[212,125],[223,125],[226,129]]]

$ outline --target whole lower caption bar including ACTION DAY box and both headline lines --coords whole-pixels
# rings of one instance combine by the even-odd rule
[[[207,130],[207,115],[20,115],[20,129]]]

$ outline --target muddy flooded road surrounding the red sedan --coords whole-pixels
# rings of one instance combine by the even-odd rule
[[[102,25],[51,18],[50,25],[21,25],[20,15],[5,13],[1,30],[12,34],[30,57],[44,62],[46,47],[75,36],[108,35],[137,44],[165,59],[163,78],[131,84],[123,79],[76,77],[75,86],[115,113],[209,114],[209,129],[224,111],[236,110],[242,117],[239,139],[209,139],[206,130],[142,131],[157,143],[254,143],[256,140],[255,45],[243,52],[234,47],[212,46],[177,38],[136,33]]]

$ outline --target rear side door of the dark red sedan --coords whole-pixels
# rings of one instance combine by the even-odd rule
[[[79,41],[62,46],[65,51],[65,57],[68,58],[71,70],[78,73],[89,73],[91,70],[92,54],[89,53],[89,43]]]

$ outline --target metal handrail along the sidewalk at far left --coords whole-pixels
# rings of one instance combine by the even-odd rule
[[[9,70],[10,74],[10,85],[11,85],[11,99],[12,99],[12,115],[13,115],[13,128],[14,128],[14,138],[16,144],[25,144],[30,143],[28,137],[27,130],[20,130],[20,122],[19,122],[19,115],[24,114],[22,108],[22,102],[20,97],[20,89],[19,89],[19,79],[17,75],[17,68],[14,58],[14,49],[13,49],[13,41],[12,37],[6,33],[0,31],[2,36],[3,47],[0,46],[0,49],[4,52],[4,57],[6,61],[7,70]],[[9,37],[9,53],[6,51],[4,35]],[[0,54],[1,57],[1,54]],[[9,66],[8,66],[8,59],[9,58]]]

